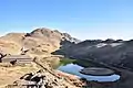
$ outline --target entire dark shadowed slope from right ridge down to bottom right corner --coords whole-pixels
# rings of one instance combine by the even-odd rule
[[[98,86],[98,88],[133,87],[133,40],[89,40],[73,44],[66,48],[61,47],[54,54],[80,59],[79,64],[83,66],[94,63],[95,66],[102,65],[103,67],[113,68],[121,76],[121,79],[114,85],[110,85],[109,87],[101,85],[102,87]]]

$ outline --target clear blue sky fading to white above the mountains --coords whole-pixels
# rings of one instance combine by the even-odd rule
[[[130,40],[133,0],[0,0],[0,35],[37,28],[80,40]]]

